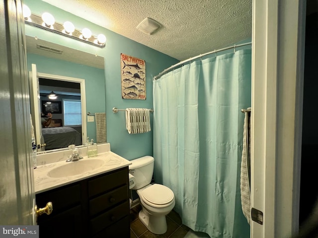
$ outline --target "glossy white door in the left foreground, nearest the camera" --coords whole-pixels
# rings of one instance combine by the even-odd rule
[[[21,0],[0,1],[0,224],[34,225],[29,84]]]

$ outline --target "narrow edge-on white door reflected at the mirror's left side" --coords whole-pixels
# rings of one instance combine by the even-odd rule
[[[34,126],[35,141],[37,151],[44,151],[41,126],[41,104],[40,104],[40,85],[36,65],[32,63],[32,71],[30,72],[30,101],[31,101],[31,115]]]

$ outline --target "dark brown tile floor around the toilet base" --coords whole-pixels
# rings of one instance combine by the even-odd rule
[[[130,210],[130,238],[184,238],[190,231],[190,228],[182,225],[180,216],[172,210],[166,216],[168,226],[166,233],[162,235],[153,234],[139,220],[138,213],[140,210],[140,205]]]

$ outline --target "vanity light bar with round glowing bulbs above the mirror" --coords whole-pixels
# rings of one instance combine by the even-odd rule
[[[65,31],[65,28],[63,26],[63,24],[59,23],[59,22],[55,22],[54,24],[52,24],[51,26],[46,25],[45,23],[43,23],[42,17],[38,16],[36,14],[31,14],[29,17],[24,19],[24,23],[30,26],[34,26],[46,31],[50,31],[59,35],[63,35],[93,46],[97,46],[100,48],[104,48],[105,47],[105,42],[99,42],[96,36],[89,36],[89,38],[85,39],[83,37],[83,34],[80,30],[75,29],[74,32],[72,33],[67,33]],[[87,29],[87,28],[86,28]],[[101,34],[100,34],[101,35]],[[106,38],[104,35],[102,35],[103,37],[101,39],[103,39],[104,41],[106,41]]]

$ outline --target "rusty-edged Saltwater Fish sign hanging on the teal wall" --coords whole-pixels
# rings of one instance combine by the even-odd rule
[[[120,54],[122,98],[146,100],[146,62]]]

